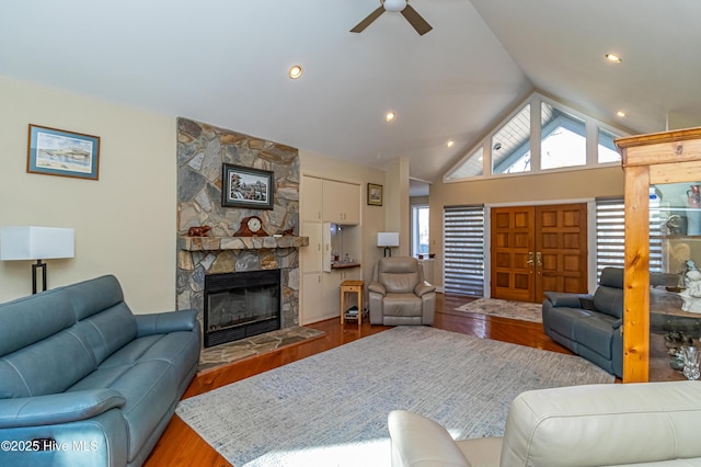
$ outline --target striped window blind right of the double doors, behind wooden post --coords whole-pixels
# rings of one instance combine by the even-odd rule
[[[596,200],[596,273],[597,283],[604,267],[623,267],[625,254],[624,201],[619,198]],[[664,220],[658,202],[650,205],[650,271],[663,271],[662,227]]]

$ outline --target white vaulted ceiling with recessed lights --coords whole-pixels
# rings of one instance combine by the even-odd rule
[[[701,125],[698,0],[411,0],[427,34],[390,12],[349,32],[379,4],[9,0],[0,75],[426,181],[533,89],[632,133]]]

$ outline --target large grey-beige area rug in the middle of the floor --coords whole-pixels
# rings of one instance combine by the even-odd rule
[[[387,415],[458,438],[501,435],[521,391],[613,383],[587,361],[427,327],[398,327],[185,399],[176,413],[235,467],[389,466]]]

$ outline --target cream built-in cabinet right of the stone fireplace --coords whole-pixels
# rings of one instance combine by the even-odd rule
[[[309,247],[300,249],[299,321],[308,324],[340,317],[341,283],[363,276],[359,266],[332,269],[330,263],[332,250],[340,249],[334,241],[338,226],[346,250],[338,253],[360,257],[360,185],[303,175],[301,191],[301,235],[309,237]]]

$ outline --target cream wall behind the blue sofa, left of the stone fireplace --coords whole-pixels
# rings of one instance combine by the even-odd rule
[[[134,312],[175,305],[175,117],[0,77],[0,226],[73,227],[48,285],[115,274]],[[26,173],[28,124],[101,137],[100,180]],[[0,301],[31,294],[31,262],[0,262]]]

